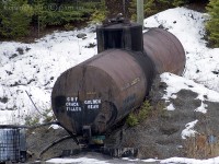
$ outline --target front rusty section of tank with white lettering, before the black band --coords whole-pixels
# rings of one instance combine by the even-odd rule
[[[77,136],[84,126],[92,134],[105,132],[143,101],[152,72],[150,63],[149,74],[140,67],[145,59],[143,54],[111,49],[64,72],[51,94],[57,119]]]

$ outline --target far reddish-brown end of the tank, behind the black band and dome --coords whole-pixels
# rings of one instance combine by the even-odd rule
[[[143,34],[143,49],[154,62],[158,73],[183,73],[185,51],[173,34],[161,28],[151,28]]]

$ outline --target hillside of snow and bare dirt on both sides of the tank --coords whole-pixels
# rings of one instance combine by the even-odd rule
[[[153,98],[165,102],[166,108],[160,116],[163,120],[157,117],[142,127],[126,129],[123,141],[116,141],[115,145],[147,145],[139,157],[219,155],[219,48],[206,47],[203,39],[206,19],[204,13],[175,8],[145,20],[146,28],[165,28],[181,40],[186,51],[186,68],[183,77],[163,73],[157,80],[154,92],[159,92]],[[94,31],[94,26],[89,26],[55,32],[33,44],[0,43],[0,124],[24,124],[27,118],[34,122],[30,119],[36,117],[43,121],[46,118],[42,114],[51,116],[53,85],[61,72],[96,54]],[[82,33],[87,36],[78,38]],[[131,133],[141,138],[135,138],[130,144]],[[186,147],[189,143],[195,145]],[[182,148],[186,151],[181,151]]]

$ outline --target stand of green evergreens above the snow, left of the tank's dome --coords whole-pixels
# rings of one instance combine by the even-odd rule
[[[103,20],[104,3],[105,0],[0,0],[0,37],[26,36],[33,25],[39,34],[48,26],[69,28],[78,22]]]

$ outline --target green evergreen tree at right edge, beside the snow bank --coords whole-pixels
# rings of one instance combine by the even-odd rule
[[[219,47],[219,0],[210,0],[207,5],[210,20],[206,24],[206,30],[209,34],[210,45]]]

